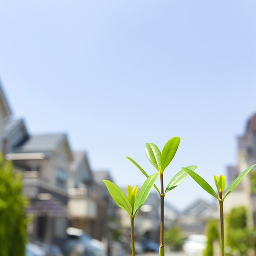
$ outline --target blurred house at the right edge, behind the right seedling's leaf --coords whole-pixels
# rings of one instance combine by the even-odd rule
[[[247,167],[256,163],[256,113],[247,122],[244,135],[238,137],[238,158],[236,166],[228,166],[229,185]],[[255,173],[255,172],[254,172]],[[249,223],[256,225],[256,193],[252,183],[253,171],[244,177],[241,183],[225,199],[224,213],[236,206],[245,206],[249,210]]]

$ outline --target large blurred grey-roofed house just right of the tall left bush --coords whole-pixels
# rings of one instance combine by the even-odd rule
[[[7,119],[6,159],[23,173],[33,239],[63,247],[66,239],[67,180],[73,155],[66,134],[29,135],[22,119]]]

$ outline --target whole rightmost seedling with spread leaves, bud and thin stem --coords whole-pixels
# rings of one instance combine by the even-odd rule
[[[188,168],[181,168],[183,169],[186,173],[188,173],[206,192],[208,192],[210,195],[214,196],[215,198],[218,199],[219,204],[220,204],[220,220],[221,220],[221,256],[224,256],[224,218],[223,218],[223,202],[224,199],[229,195],[235,188],[236,186],[241,182],[241,180],[244,178],[245,175],[247,175],[248,172],[250,172],[253,167],[256,166],[252,165],[248,167],[247,169],[244,170],[237,178],[232,182],[230,187],[227,189],[227,192],[223,196],[224,189],[226,187],[226,177],[224,175],[215,176],[214,175],[214,181],[215,185],[218,189],[218,195],[214,191],[214,189],[197,173],[192,172]]]

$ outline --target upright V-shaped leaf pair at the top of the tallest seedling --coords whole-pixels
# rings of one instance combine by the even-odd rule
[[[159,150],[157,145],[146,143],[145,151],[148,160],[152,163],[155,169],[162,175],[166,167],[171,163],[180,144],[180,137],[173,137],[163,147],[163,151]]]

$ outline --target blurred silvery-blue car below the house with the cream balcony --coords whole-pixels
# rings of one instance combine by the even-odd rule
[[[79,256],[106,256],[107,249],[104,243],[92,239],[89,235],[85,234],[83,230],[68,227],[66,254]]]

